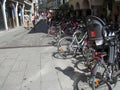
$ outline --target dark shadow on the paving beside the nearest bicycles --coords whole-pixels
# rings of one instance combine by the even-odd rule
[[[72,79],[74,81],[74,83],[73,83],[74,90],[79,90],[79,88],[78,88],[79,81],[87,82],[88,76],[85,75],[84,73],[75,71],[73,67],[67,67],[64,70],[61,69],[60,67],[55,67],[55,69],[63,72],[65,75],[67,75],[70,79]]]

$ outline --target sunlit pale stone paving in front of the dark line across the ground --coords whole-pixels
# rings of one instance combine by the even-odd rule
[[[55,51],[55,47],[0,49],[0,90],[73,90],[73,80],[62,72],[72,67],[71,60],[53,58]]]

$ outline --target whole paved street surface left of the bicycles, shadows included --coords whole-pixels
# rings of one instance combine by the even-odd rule
[[[53,57],[52,41],[42,20],[31,30],[0,32],[0,90],[91,90],[88,73],[74,67],[78,60]]]

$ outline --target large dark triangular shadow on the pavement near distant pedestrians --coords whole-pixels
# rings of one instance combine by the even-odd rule
[[[40,20],[35,27],[31,29],[29,34],[32,33],[47,33],[47,24],[44,20]]]

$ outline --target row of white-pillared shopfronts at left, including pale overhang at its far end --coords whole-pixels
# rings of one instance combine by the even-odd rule
[[[34,0],[0,0],[0,30],[23,25],[24,12],[34,12]]]

